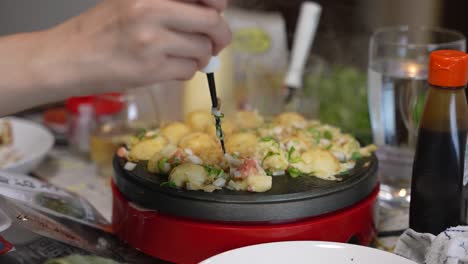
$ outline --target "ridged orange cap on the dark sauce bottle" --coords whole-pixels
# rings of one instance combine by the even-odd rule
[[[429,58],[429,83],[461,87],[468,82],[468,54],[458,50],[437,50]]]

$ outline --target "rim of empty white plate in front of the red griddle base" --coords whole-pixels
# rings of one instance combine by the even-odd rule
[[[415,264],[382,250],[351,244],[291,241],[231,250],[201,264]]]

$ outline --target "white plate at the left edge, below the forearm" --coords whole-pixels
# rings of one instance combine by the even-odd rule
[[[20,118],[8,117],[13,129],[13,144],[0,147],[0,160],[13,151],[18,160],[0,166],[0,170],[16,173],[33,171],[54,145],[54,136],[43,126]]]

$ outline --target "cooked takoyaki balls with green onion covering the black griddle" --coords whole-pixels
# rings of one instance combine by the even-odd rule
[[[272,188],[272,177],[280,175],[338,181],[376,149],[361,147],[352,135],[298,113],[270,120],[242,111],[223,121],[227,151],[223,155],[214,124],[209,112],[193,112],[185,123],[141,131],[128,151],[121,149],[118,155],[127,158],[127,170],[147,161],[147,170],[166,175],[163,185],[169,187],[265,192]]]

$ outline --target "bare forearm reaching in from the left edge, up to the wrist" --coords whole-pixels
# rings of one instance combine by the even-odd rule
[[[79,93],[73,63],[51,43],[47,31],[0,38],[0,116]]]

